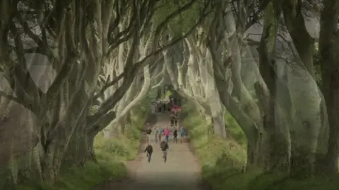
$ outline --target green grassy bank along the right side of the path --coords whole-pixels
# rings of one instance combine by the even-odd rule
[[[189,109],[185,106],[186,109]],[[289,179],[284,174],[263,174],[261,170],[245,173],[246,138],[230,115],[225,115],[229,139],[208,137],[210,123],[189,111],[184,126],[190,129],[191,142],[201,161],[203,180],[213,190],[335,190],[339,187],[338,176],[304,179]]]

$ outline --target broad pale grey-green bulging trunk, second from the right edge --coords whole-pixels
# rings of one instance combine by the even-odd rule
[[[317,149],[321,121],[321,96],[314,78],[291,63],[288,69],[288,87],[292,102],[291,139],[291,175],[293,177],[310,176],[314,173],[315,153]]]

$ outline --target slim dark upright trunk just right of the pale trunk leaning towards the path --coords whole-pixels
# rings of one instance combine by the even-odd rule
[[[265,10],[263,23],[263,34],[261,35],[259,53],[259,70],[263,81],[256,82],[254,88],[261,107],[261,118],[263,120],[263,133],[261,139],[264,151],[264,165],[266,170],[288,171],[289,169],[289,141],[283,132],[283,127],[276,120],[278,104],[276,103],[278,76],[275,73],[277,65],[274,61],[275,44],[278,34],[278,18],[280,11],[268,4]],[[279,115],[278,115],[279,117]]]

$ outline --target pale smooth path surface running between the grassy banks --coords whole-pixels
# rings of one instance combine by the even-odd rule
[[[168,115],[158,115],[160,127],[169,126]],[[197,158],[190,151],[189,144],[173,143],[169,138],[169,151],[167,162],[164,163],[159,143],[155,143],[154,135],[151,136],[153,155],[150,163],[145,153],[139,153],[136,160],[126,162],[131,180],[121,184],[110,183],[100,190],[119,189],[161,189],[161,190],[199,190],[201,189],[200,166]],[[145,144],[143,144],[143,147]],[[99,189],[98,189],[99,190]]]

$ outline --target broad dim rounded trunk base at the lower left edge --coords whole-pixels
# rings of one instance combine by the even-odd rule
[[[7,106],[0,106],[0,167],[6,167],[0,175],[7,185],[20,183],[23,179],[39,181],[40,172],[33,153],[39,141],[35,131],[36,117],[30,110],[7,100],[2,98],[1,103]],[[1,187],[2,182],[0,180]]]

